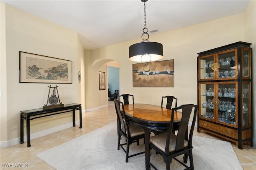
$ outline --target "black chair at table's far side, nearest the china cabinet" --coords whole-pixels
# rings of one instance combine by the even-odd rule
[[[174,96],[162,96],[161,107],[163,107],[164,98],[167,98],[166,109],[172,109],[173,100],[175,100],[175,106],[174,107],[177,107],[178,99]],[[174,125],[173,133],[175,133],[176,130],[178,130],[178,123],[176,123]],[[158,129],[156,129],[156,130],[152,130],[152,132],[155,135],[158,135],[158,134],[166,133],[166,132],[168,132],[168,130],[158,130]]]

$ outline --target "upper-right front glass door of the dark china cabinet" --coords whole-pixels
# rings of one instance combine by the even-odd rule
[[[232,49],[217,54],[220,68],[217,72],[218,79],[234,79],[237,77],[237,50]]]

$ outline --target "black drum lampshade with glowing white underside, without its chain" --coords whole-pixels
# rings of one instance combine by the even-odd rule
[[[149,55],[143,56],[143,55]],[[150,58],[151,57],[151,58]],[[129,59],[136,62],[150,62],[163,58],[163,45],[157,42],[140,42],[129,47]]]

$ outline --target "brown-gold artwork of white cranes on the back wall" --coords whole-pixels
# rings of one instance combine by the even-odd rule
[[[133,87],[174,87],[174,60],[132,65]]]

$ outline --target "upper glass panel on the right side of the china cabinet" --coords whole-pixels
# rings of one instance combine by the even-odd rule
[[[249,78],[250,79],[250,49],[247,48],[242,48],[242,78],[246,79]]]

